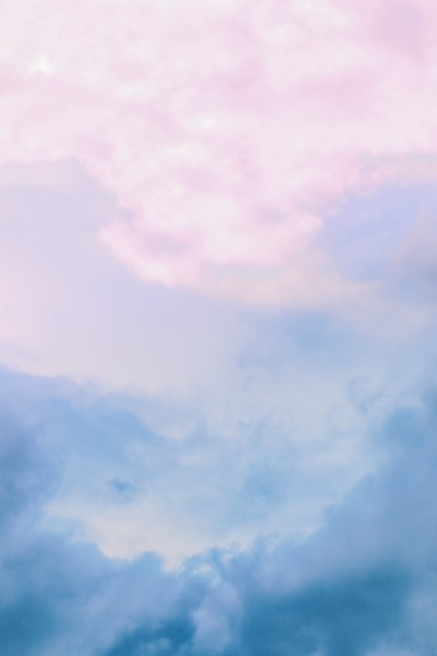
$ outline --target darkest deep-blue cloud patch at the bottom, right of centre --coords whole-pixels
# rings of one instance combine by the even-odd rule
[[[311,583],[276,596],[251,590],[241,630],[244,652],[253,656],[358,656],[405,616],[410,589],[399,566]]]

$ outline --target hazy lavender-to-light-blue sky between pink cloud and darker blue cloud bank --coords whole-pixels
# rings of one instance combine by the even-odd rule
[[[68,454],[50,501],[56,522],[107,555],[157,549],[174,562],[259,534],[308,535],[375,466],[368,426],[435,358],[428,282],[408,263],[424,249],[416,216],[423,200],[432,209],[431,190],[352,198],[320,232],[342,275],[376,280],[390,312],[401,308],[372,333],[368,317],[361,325],[347,313],[241,310],[145,287],[96,241],[113,200],[74,161],[0,174],[3,361],[91,380],[120,409],[110,419],[74,407],[50,414]],[[404,280],[423,290],[422,302]],[[400,323],[423,308],[424,327]],[[28,403],[19,385],[7,387],[9,405]]]

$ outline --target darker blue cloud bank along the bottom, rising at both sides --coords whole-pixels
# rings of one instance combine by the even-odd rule
[[[44,527],[44,505],[62,472],[64,429],[70,439],[72,426],[89,424],[91,405],[80,418],[63,393],[53,410],[53,390],[38,400],[24,392],[26,385],[24,377],[20,412],[4,409],[0,416],[2,656],[431,655],[437,641],[435,395],[396,410],[375,431],[381,467],[304,542],[259,544],[233,557],[210,552],[168,572],[154,554],[111,560]],[[138,430],[134,418],[120,425],[129,421],[129,430]],[[100,436],[104,424],[97,423]],[[107,417],[110,448],[109,425]],[[109,483],[115,494],[131,492],[123,479]],[[261,484],[267,485],[264,478]]]

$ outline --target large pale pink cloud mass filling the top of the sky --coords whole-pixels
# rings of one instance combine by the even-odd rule
[[[147,281],[255,302],[355,294],[324,207],[437,142],[437,6],[2,2],[0,158],[76,158],[131,210]]]

